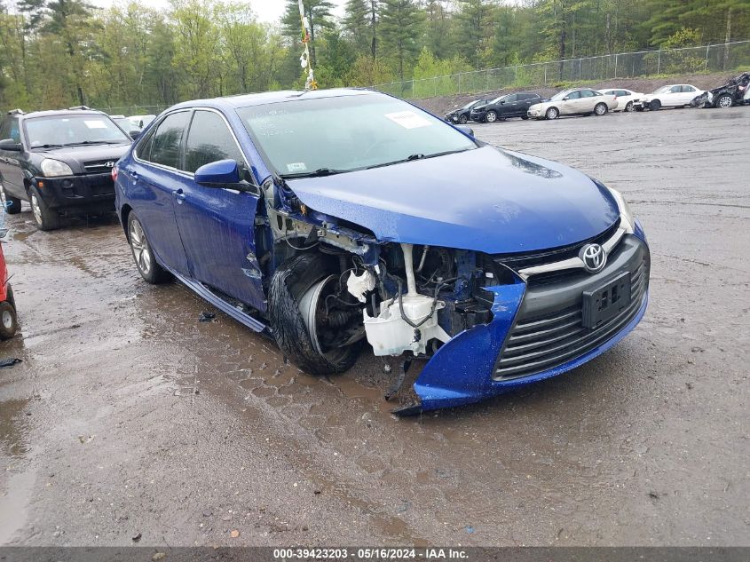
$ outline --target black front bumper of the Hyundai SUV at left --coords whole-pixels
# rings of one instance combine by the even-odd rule
[[[114,210],[114,182],[110,173],[34,178],[50,209],[68,213]]]

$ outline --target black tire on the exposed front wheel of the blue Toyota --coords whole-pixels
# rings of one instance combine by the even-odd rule
[[[364,339],[360,338],[349,345],[327,348],[320,338],[311,335],[317,326],[321,292],[331,279],[337,282],[336,268],[325,256],[313,252],[289,259],[271,278],[268,313],[273,336],[284,355],[311,375],[330,375],[350,369],[364,344]]]

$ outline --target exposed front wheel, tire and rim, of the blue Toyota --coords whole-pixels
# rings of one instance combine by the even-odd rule
[[[284,355],[311,375],[348,370],[364,343],[359,307],[336,311],[328,298],[336,295],[339,276],[327,256],[309,252],[280,265],[271,279],[273,336]]]

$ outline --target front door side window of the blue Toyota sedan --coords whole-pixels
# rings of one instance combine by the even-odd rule
[[[196,111],[185,145],[185,170],[194,172],[204,164],[227,159],[245,161],[224,119],[211,111]]]

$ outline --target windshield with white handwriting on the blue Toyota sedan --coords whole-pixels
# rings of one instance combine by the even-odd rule
[[[296,99],[237,112],[272,168],[285,177],[361,170],[477,147],[432,115],[380,94]]]

